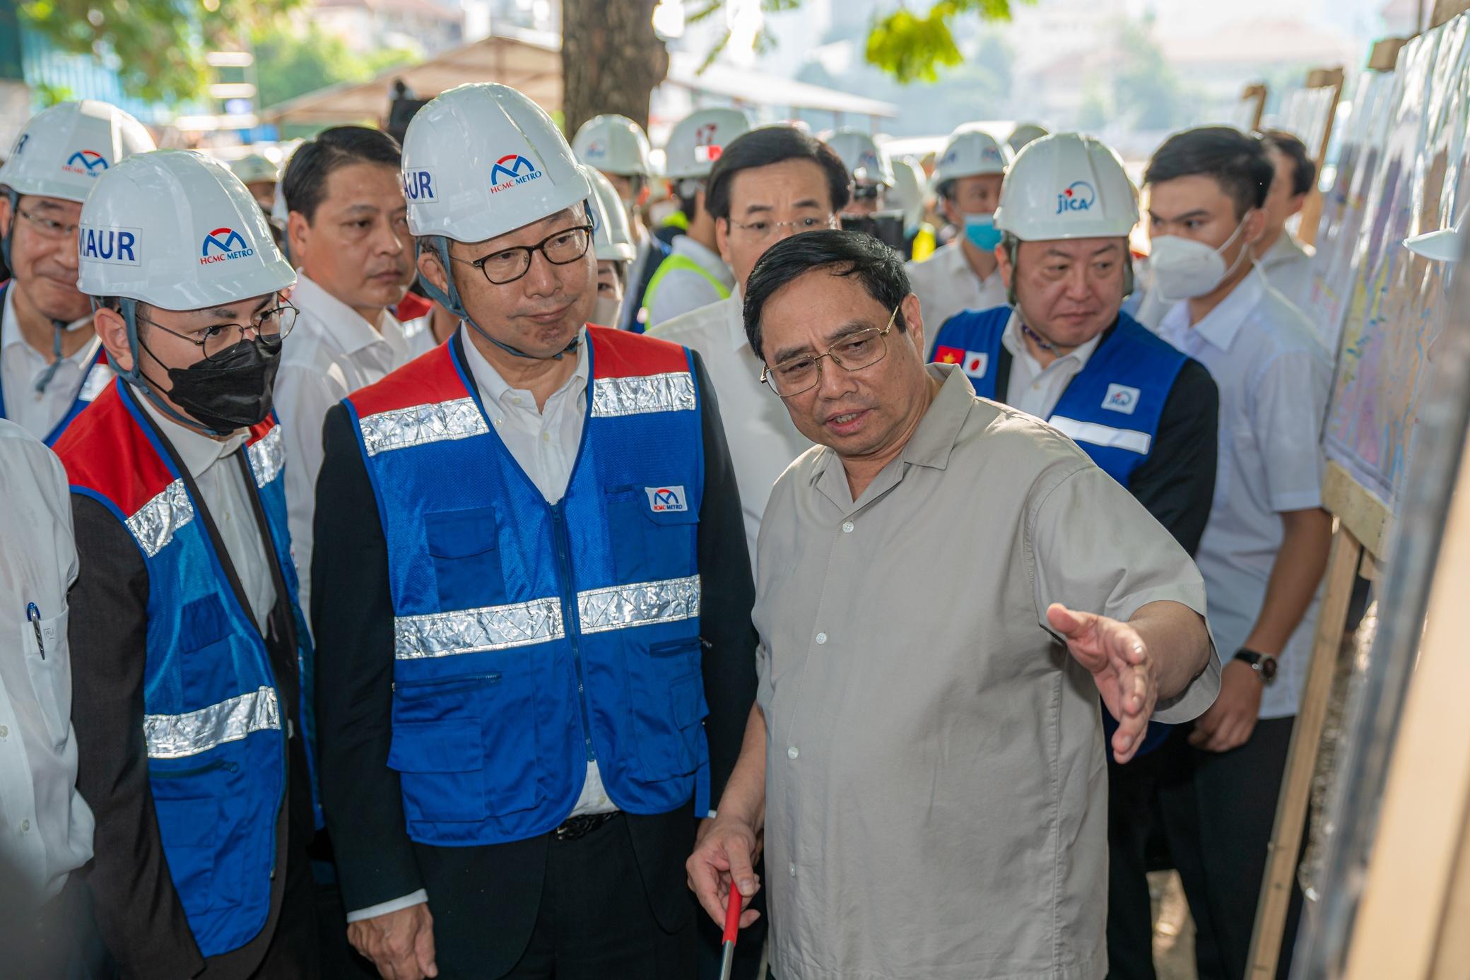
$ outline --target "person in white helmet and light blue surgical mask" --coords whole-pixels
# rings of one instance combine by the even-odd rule
[[[925,320],[935,328],[933,336],[956,313],[1005,304],[1005,284],[997,267],[1001,232],[995,228],[995,209],[1013,159],[1010,147],[966,123],[950,135],[935,165],[939,210],[958,234],[929,259],[906,266]]]

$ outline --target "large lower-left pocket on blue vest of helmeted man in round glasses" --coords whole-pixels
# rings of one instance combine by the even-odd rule
[[[541,801],[532,679],[397,682],[388,767],[410,820],[479,823],[531,810]]]

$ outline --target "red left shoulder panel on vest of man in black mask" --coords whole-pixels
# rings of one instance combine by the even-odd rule
[[[72,486],[85,486],[132,516],[173,482],[153,442],[109,385],[56,442]]]

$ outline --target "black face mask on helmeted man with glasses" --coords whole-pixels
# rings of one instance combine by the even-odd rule
[[[215,360],[168,367],[173,385],[168,397],[206,429],[234,432],[265,422],[270,414],[278,367],[279,342],[241,339]]]

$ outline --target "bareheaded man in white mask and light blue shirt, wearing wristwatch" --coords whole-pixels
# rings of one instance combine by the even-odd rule
[[[1144,173],[1150,272],[1172,304],[1160,334],[1220,391],[1214,501],[1195,561],[1225,667],[1219,699],[1183,733],[1185,777],[1161,793],[1201,977],[1247,973],[1332,536],[1319,444],[1332,364],[1311,322],[1251,262],[1273,173],[1260,138],[1227,126],[1175,134]],[[1294,933],[1295,914],[1283,951]]]

